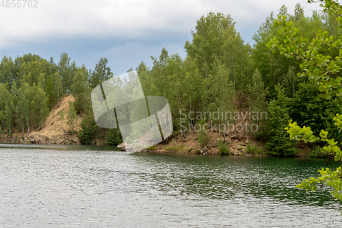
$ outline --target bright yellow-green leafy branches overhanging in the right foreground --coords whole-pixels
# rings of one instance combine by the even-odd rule
[[[308,3],[313,1],[308,0]],[[319,0],[324,11],[330,15],[336,16],[336,21],[342,25],[342,6],[336,1],[332,0]],[[274,27],[278,27],[278,33],[285,34],[286,38],[280,44],[279,40],[274,38],[267,47],[273,51],[280,50],[280,53],[289,58],[298,58],[302,60],[300,68],[302,73],[298,73],[298,77],[306,77],[319,85],[319,90],[324,94],[326,99],[331,97],[342,97],[342,41],[335,40],[333,36],[329,36],[327,31],[318,31],[316,38],[311,42],[308,39],[300,36],[300,29],[294,27],[293,22],[287,21],[286,16],[278,16],[274,21]],[[338,49],[339,55],[332,57],[326,55],[323,48]],[[342,129],[342,115],[336,114],[333,118],[334,125],[337,126],[339,131]],[[342,152],[339,147],[341,142],[328,138],[329,132],[321,130],[319,137],[313,135],[310,127],[300,127],[297,123],[289,121],[289,127],[285,128],[289,133],[291,139],[303,140],[304,142],[324,142],[325,146],[321,151],[334,157],[335,161],[342,160]],[[317,184],[326,184],[334,188],[332,196],[335,199],[342,201],[342,166],[336,170],[331,171],[329,168],[321,168],[318,170],[321,177],[305,179],[302,183],[296,185],[297,188],[315,191]]]

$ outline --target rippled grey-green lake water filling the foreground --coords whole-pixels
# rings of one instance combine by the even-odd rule
[[[0,227],[342,227],[324,160],[115,149],[0,144]]]

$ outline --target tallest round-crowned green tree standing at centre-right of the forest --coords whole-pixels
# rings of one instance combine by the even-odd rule
[[[202,92],[202,105],[205,111],[215,106],[211,92],[215,90],[215,86],[211,85],[215,80],[209,79],[209,75],[216,78],[217,62],[229,71],[228,79],[233,82],[233,106],[236,103],[237,89],[244,88],[244,77],[248,73],[249,45],[244,45],[234,26],[235,22],[230,15],[209,12],[197,21],[196,31],[192,31],[192,42],[185,42],[188,57],[196,60],[198,73],[202,75],[205,88]]]

